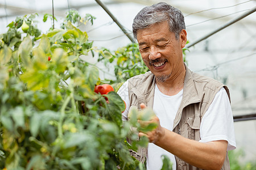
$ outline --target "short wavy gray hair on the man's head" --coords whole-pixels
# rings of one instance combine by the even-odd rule
[[[137,40],[137,31],[150,27],[155,23],[168,21],[169,29],[178,40],[182,29],[185,29],[184,16],[180,10],[165,2],[142,8],[133,20],[133,35]]]

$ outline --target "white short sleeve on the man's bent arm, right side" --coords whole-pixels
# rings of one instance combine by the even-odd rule
[[[223,87],[217,92],[212,104],[203,116],[200,125],[200,137],[199,142],[228,141],[227,151],[236,148],[232,109],[228,94]]]

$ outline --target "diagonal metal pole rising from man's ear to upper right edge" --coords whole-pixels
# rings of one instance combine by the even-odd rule
[[[195,41],[195,42],[193,42],[193,43],[191,43],[191,44],[188,44],[187,48],[190,48],[191,46],[197,44],[198,42],[201,42],[201,41],[207,39],[209,36],[214,35],[214,33],[217,33],[217,32],[219,32],[219,31],[221,31],[222,29],[228,27],[229,25],[232,25],[233,23],[238,22],[238,20],[241,20],[241,19],[245,18],[247,15],[250,15],[250,14],[252,14],[252,13],[255,12],[255,11],[256,11],[256,7],[251,8],[251,10],[245,12],[244,14],[238,16],[237,18],[234,18],[233,20],[230,20],[228,23],[222,25],[220,28],[217,28],[217,29],[214,30],[213,32],[208,33],[208,35],[205,35],[205,36],[201,37],[201,39],[199,39],[199,40],[197,40],[197,41]]]

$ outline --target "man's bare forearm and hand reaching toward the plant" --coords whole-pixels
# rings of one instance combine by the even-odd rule
[[[141,108],[145,108],[144,104]],[[139,121],[143,126],[155,122],[158,128],[147,133],[139,132],[139,137],[146,136],[150,142],[171,152],[185,162],[202,169],[221,169],[226,158],[227,141],[198,142],[182,137],[160,126],[159,118],[151,121]]]

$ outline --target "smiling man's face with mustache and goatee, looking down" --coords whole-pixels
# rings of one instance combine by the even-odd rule
[[[148,69],[159,82],[175,79],[184,69],[182,48],[187,41],[183,29],[179,40],[170,32],[168,22],[152,24],[137,32],[139,52]]]

